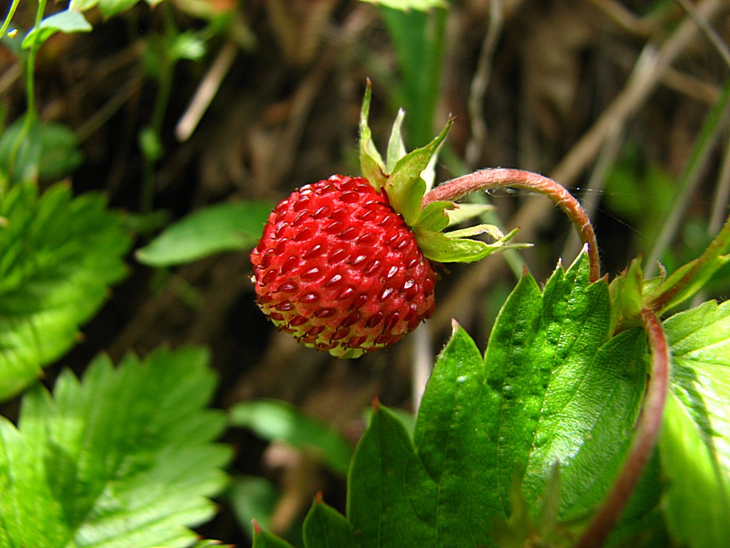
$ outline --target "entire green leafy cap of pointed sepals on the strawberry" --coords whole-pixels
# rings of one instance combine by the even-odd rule
[[[383,161],[368,125],[371,98],[372,89],[368,80],[360,113],[359,156],[362,175],[388,197],[391,207],[403,217],[414,233],[424,256],[435,262],[475,262],[495,251],[525,246],[507,243],[518,229],[505,235],[492,224],[443,232],[466,218],[479,216],[491,209],[488,205],[458,205],[445,200],[423,205],[423,197],[433,185],[438,153],[453,124],[453,117],[449,117],[444,128],[428,145],[407,153],[401,135],[405,113],[399,110]],[[479,235],[488,235],[491,241],[473,239]]]

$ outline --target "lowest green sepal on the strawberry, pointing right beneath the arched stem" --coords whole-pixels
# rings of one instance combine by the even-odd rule
[[[468,229],[467,229],[468,230]],[[456,232],[456,231],[455,231]],[[450,237],[449,233],[435,230],[415,229],[415,237],[423,256],[436,262],[475,262],[495,251],[504,251],[507,248],[525,247],[528,244],[507,245],[507,242],[519,232],[514,229],[504,237],[492,243],[480,240]]]

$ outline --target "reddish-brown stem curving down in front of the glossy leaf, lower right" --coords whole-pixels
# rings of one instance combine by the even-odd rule
[[[669,387],[669,345],[666,343],[664,329],[656,313],[649,308],[642,308],[641,319],[651,349],[651,374],[644,408],[639,416],[626,462],[604,505],[593,518],[591,525],[588,525],[583,532],[575,548],[599,548],[606,541],[639,481],[661,427],[661,415]]]

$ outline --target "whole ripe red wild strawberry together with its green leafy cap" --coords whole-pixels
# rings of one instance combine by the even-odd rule
[[[261,310],[301,343],[337,357],[395,343],[431,316],[431,261],[472,262],[504,248],[514,234],[502,237],[487,225],[440,232],[457,206],[422,208],[421,175],[451,122],[429,145],[405,154],[399,115],[385,163],[370,140],[369,102],[368,85],[360,121],[365,178],[333,175],[294,191],[274,208],[251,253]],[[464,239],[483,232],[496,242]]]

